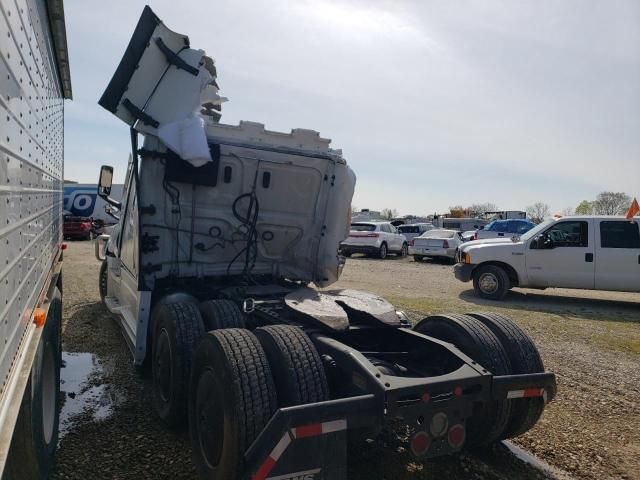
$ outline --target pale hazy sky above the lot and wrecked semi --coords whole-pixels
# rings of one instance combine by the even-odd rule
[[[146,2],[67,0],[65,177],[124,179],[128,126],[98,106]],[[341,148],[358,208],[553,211],[640,196],[636,0],[149,2],[216,60],[222,122]]]

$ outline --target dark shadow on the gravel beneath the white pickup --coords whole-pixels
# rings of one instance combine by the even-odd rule
[[[514,308],[546,313],[567,314],[585,320],[607,320],[613,322],[640,323],[640,303],[599,298],[567,297],[563,295],[541,295],[510,291],[502,301],[485,300],[473,290],[465,290],[459,298],[476,305],[493,308]]]

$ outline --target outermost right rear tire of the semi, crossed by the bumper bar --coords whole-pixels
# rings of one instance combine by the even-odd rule
[[[469,313],[486,325],[507,352],[512,374],[541,373],[544,364],[533,340],[511,318],[499,313]],[[515,398],[509,400],[511,414],[502,438],[513,438],[530,430],[540,419],[544,400],[537,398]]]

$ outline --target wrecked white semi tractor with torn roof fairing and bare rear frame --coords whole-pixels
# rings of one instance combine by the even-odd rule
[[[314,131],[219,123],[215,77],[146,7],[100,99],[132,144],[122,203],[100,172],[119,218],[96,242],[100,292],[158,417],[188,424],[201,478],[344,479],[347,436],[390,423],[421,458],[533,427],[555,377],[511,320],[412,326],[376,295],[326,289],[354,173]]]

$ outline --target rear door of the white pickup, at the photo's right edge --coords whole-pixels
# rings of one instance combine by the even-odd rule
[[[596,289],[640,292],[638,221],[596,221]]]

